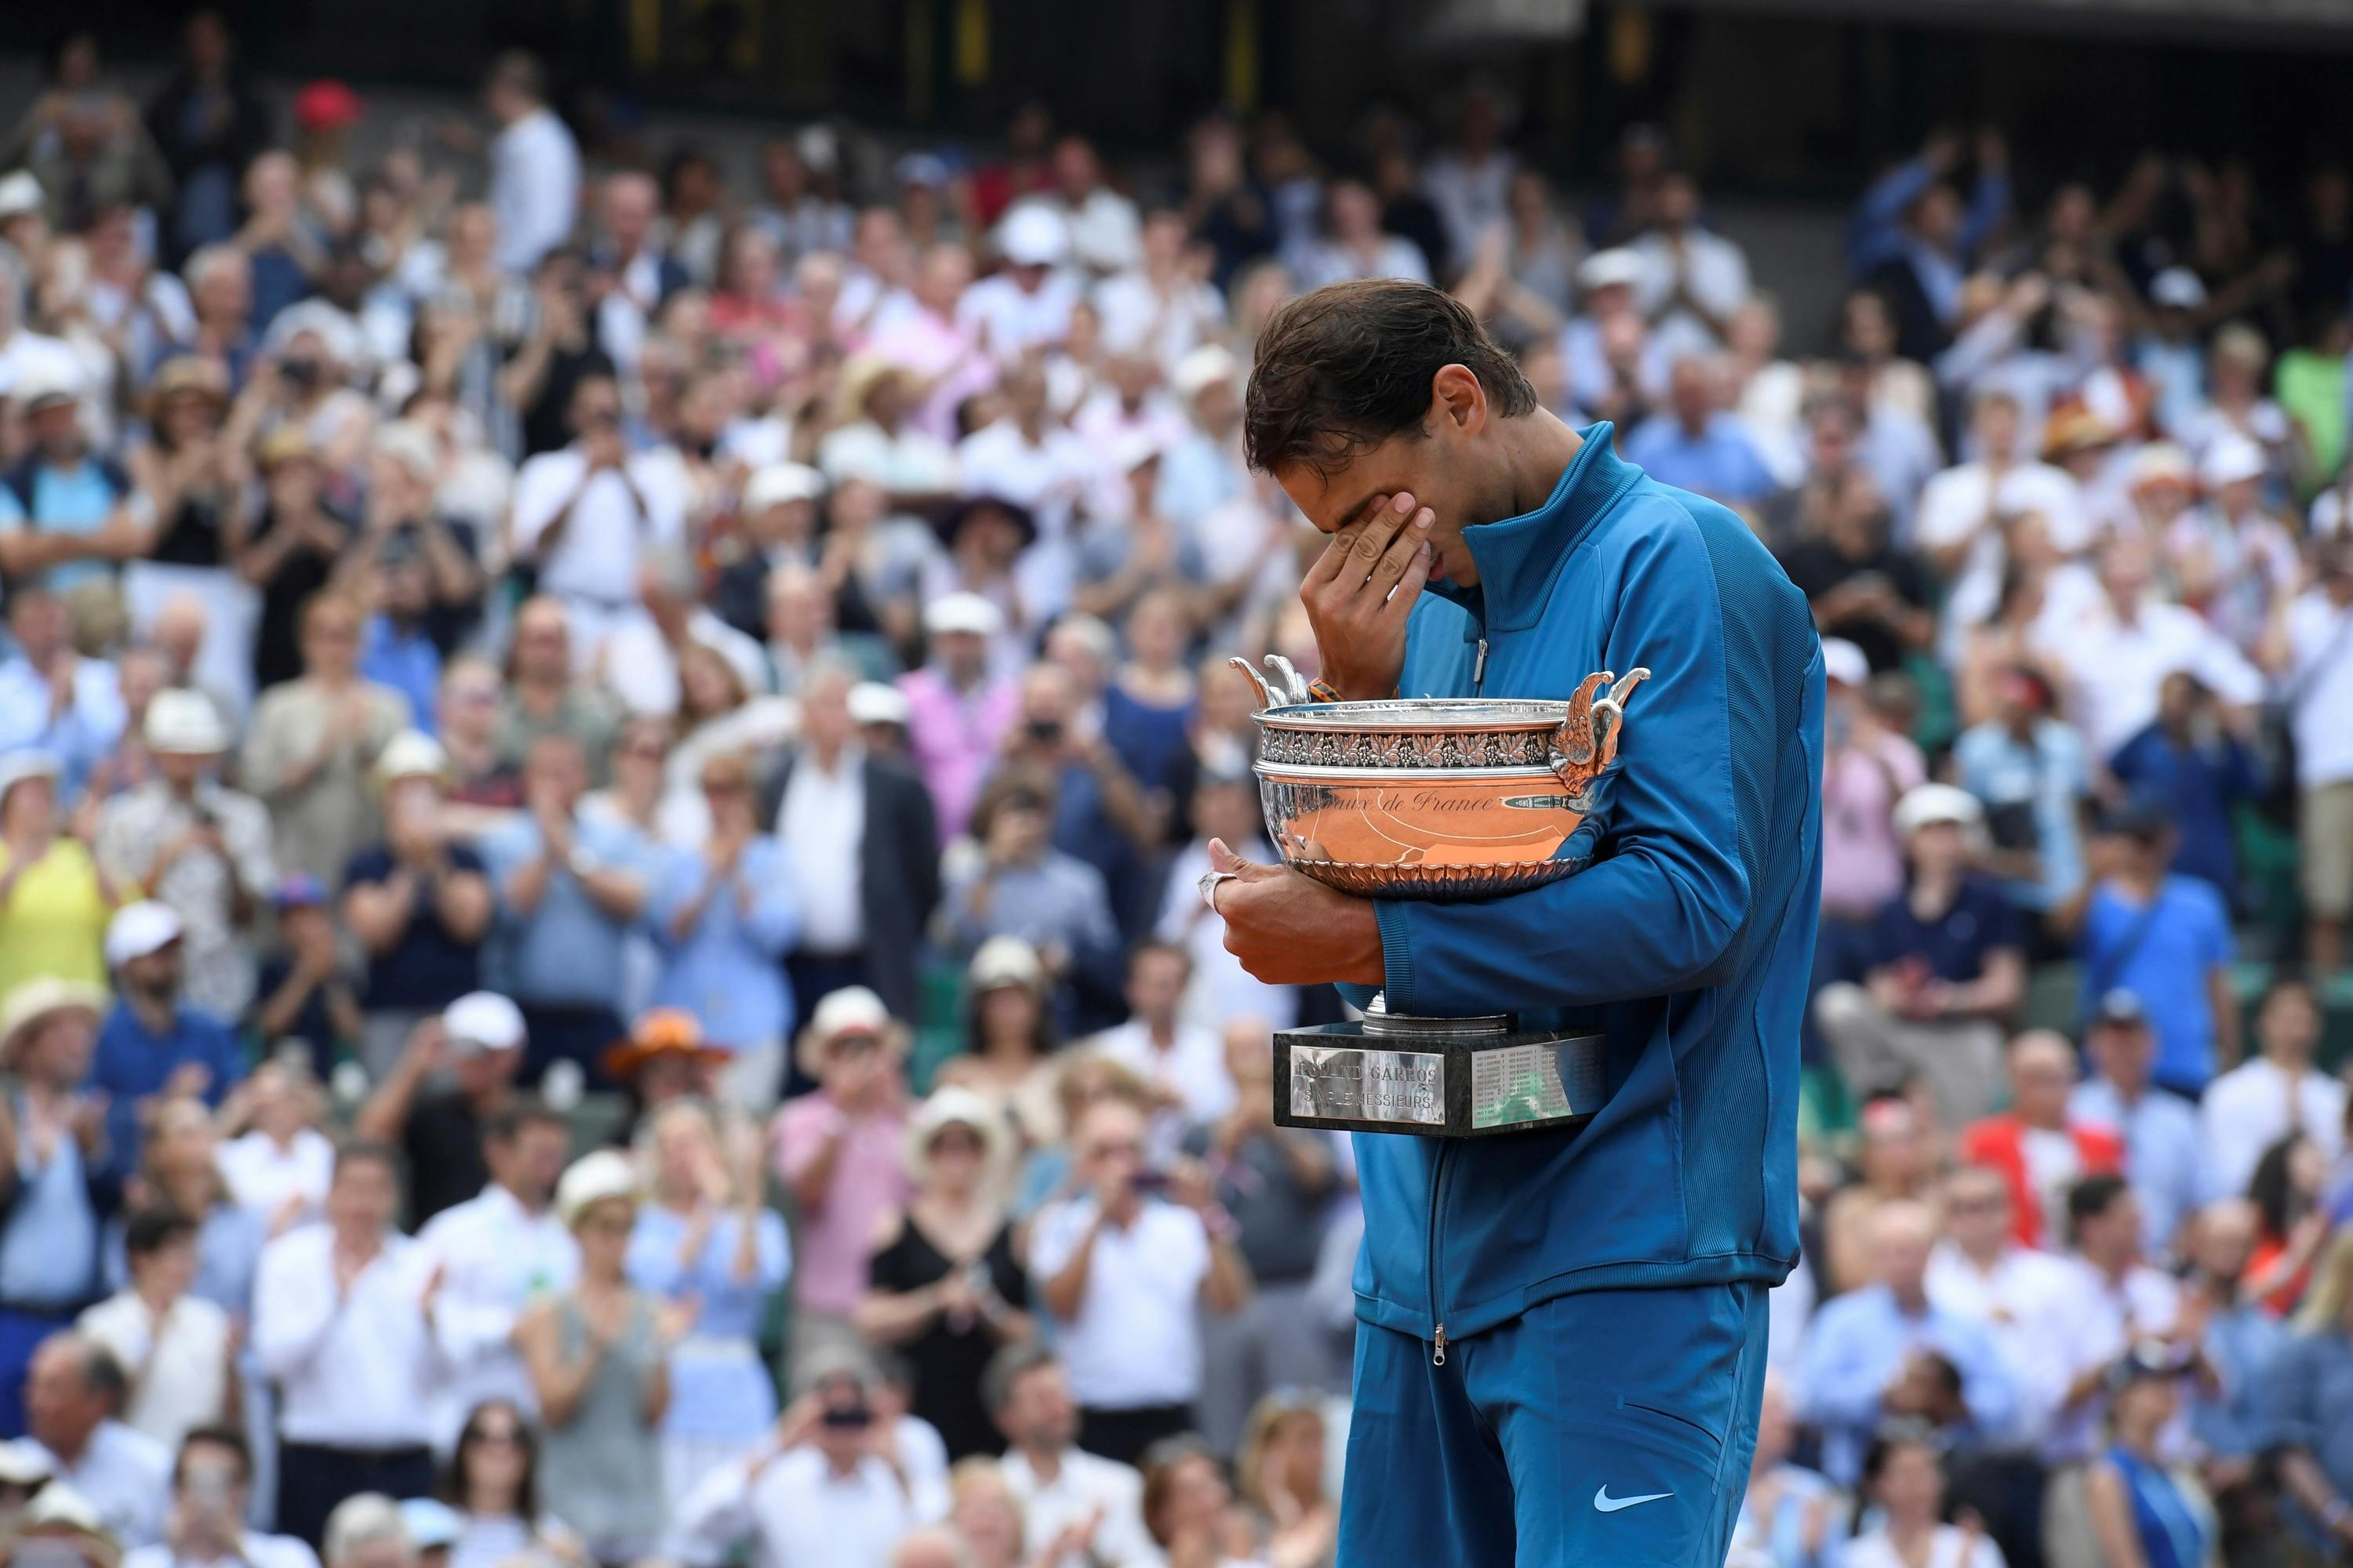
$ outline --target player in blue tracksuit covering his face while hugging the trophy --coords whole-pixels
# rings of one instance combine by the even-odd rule
[[[1261,980],[1607,1037],[1609,1098],[1581,1133],[1358,1135],[1339,1561],[1715,1568],[1765,1293],[1798,1258],[1821,882],[1805,597],[1739,517],[1619,461],[1609,425],[1546,414],[1435,289],[1285,306],[1247,437],[1334,536],[1301,588],[1320,696],[1567,698],[1649,668],[1605,804],[1562,846],[1574,877],[1362,900],[1217,851],[1226,945]]]

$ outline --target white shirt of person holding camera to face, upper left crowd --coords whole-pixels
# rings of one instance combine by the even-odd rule
[[[640,451],[621,475],[605,470],[588,480],[562,536],[539,557],[539,588],[593,599],[605,609],[638,602],[638,552],[668,543],[687,527],[687,487],[668,451]],[[539,555],[539,536],[581,489],[588,454],[579,447],[541,451],[515,473],[515,555]],[[635,494],[631,489],[635,487]],[[640,505],[642,503],[642,505]]]

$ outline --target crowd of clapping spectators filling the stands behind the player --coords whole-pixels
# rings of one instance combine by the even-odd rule
[[[1400,275],[1821,625],[1737,1561],[2353,1561],[2341,167],[1939,136],[1784,343],[1654,129],[1572,202],[1478,92],[1118,176],[482,110],[198,16],[0,143],[19,1540],[1329,1563],[1353,1161],[1268,1034],[1339,1001],[1193,879],[1268,858],[1224,658],[1315,665],[1254,331]]]

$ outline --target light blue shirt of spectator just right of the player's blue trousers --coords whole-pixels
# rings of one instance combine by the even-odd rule
[[[1847,1291],[1814,1314],[1798,1371],[1798,1418],[1821,1427],[1821,1472],[1840,1486],[1861,1476],[1880,1394],[1913,1349],[1932,1349],[1960,1371],[1960,1399],[1979,1439],[2005,1436],[2017,1389],[1977,1319],[1934,1305],[1906,1314],[1887,1286]]]

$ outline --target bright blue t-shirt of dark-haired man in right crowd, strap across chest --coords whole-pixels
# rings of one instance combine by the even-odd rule
[[[2167,877],[2153,914],[2104,882],[2082,917],[2082,1011],[2106,990],[2129,990],[2158,1034],[2155,1081],[2200,1093],[2214,1077],[2207,976],[2228,961],[2231,914],[2209,882]]]

